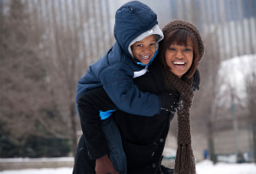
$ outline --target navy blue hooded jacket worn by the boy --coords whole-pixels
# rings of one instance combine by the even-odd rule
[[[157,15],[143,3],[133,1],[119,8],[114,25],[116,42],[79,80],[76,102],[84,92],[103,86],[113,103],[124,112],[144,116],[160,113],[158,96],[138,90],[133,83],[134,72],[144,67],[128,51],[134,38],[156,24]]]

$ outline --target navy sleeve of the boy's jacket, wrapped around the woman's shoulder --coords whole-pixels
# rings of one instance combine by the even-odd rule
[[[100,74],[104,90],[120,110],[143,116],[159,114],[158,96],[139,90],[132,77],[131,67],[124,63],[115,63]]]

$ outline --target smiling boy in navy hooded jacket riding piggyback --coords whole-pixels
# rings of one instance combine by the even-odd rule
[[[158,43],[163,39],[163,33],[157,23],[154,11],[143,3],[133,1],[120,7],[115,15],[114,37],[116,43],[106,55],[91,65],[88,72],[79,80],[76,103],[86,92],[103,87],[113,103],[127,113],[153,116],[159,114],[161,109],[171,110],[168,106],[163,107],[159,96],[138,90],[132,80],[132,78],[147,72],[148,66],[158,52]],[[77,107],[79,110],[79,107],[83,106]],[[106,103],[106,108],[109,109],[108,103]],[[119,132],[116,125],[113,124],[113,120],[108,119],[113,111],[114,109],[101,112],[102,127],[86,122],[88,115],[96,113],[79,112],[79,117],[90,159],[100,159],[109,152],[116,171],[125,173],[125,154],[122,150]],[[104,119],[106,121],[103,121]],[[97,138],[104,137],[90,132],[90,126],[102,129],[107,139],[106,144],[97,143]],[[117,141],[112,142],[115,147],[110,149],[108,137],[113,135],[115,136],[112,138]],[[93,151],[92,149],[97,150]],[[122,156],[122,159],[115,159],[116,156],[111,155],[112,150],[119,151],[120,153],[117,155]]]

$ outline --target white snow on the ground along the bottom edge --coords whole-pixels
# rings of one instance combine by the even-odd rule
[[[17,171],[0,171],[0,174],[71,174],[72,168],[57,169],[26,169]],[[255,174],[254,164],[224,164],[212,165],[209,160],[196,164],[197,174]]]

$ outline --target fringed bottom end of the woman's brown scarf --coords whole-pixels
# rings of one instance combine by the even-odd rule
[[[195,157],[191,144],[180,144],[175,159],[175,174],[195,174]]]

